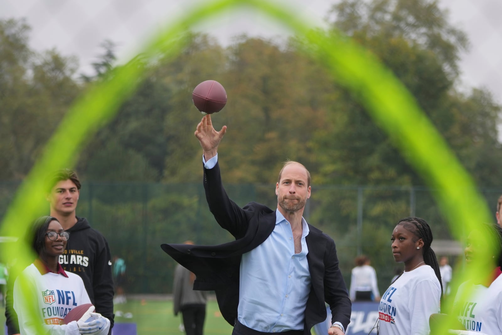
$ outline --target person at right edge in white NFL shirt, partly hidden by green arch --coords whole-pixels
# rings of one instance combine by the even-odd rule
[[[501,334],[502,228],[478,225],[467,237],[464,254],[465,270],[475,276],[462,283],[455,296],[453,312],[467,329],[458,333]]]

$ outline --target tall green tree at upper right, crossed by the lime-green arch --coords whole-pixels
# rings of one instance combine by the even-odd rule
[[[333,6],[331,14],[333,27],[378,56],[415,96],[439,131],[447,131],[455,120],[442,107],[452,92],[458,52],[465,48],[466,40],[447,23],[437,4],[423,0],[347,0]],[[333,137],[324,141],[333,142],[332,157],[340,163],[336,177],[325,182],[421,184],[352,94],[341,94],[332,111],[333,122],[338,122]]]

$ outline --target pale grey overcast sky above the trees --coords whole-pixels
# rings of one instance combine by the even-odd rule
[[[33,28],[30,44],[36,50],[56,48],[76,55],[81,70],[102,53],[105,39],[116,43],[122,61],[132,57],[142,41],[161,25],[203,0],[0,0],[0,18],[26,18]],[[271,0],[322,23],[337,0]],[[462,53],[462,87],[487,87],[502,103],[502,1],[439,0],[450,12],[450,22],[468,34],[471,46]],[[286,36],[288,31],[256,13],[224,14],[199,27],[222,44],[236,34]],[[502,133],[502,132],[501,132]]]

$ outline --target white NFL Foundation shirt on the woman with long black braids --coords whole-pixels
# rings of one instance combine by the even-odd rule
[[[430,266],[405,271],[380,300],[380,334],[428,334],[429,316],[439,313],[440,299],[441,285]]]

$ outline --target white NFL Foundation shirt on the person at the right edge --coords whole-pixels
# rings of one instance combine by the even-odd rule
[[[470,291],[467,301],[461,300],[467,289]],[[469,333],[502,334],[502,275],[489,287],[464,282],[458,287],[453,306]]]

